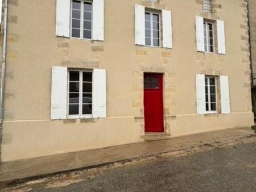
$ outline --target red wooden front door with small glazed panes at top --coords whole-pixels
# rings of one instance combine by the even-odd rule
[[[144,74],[145,132],[163,132],[163,74]]]

